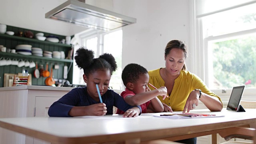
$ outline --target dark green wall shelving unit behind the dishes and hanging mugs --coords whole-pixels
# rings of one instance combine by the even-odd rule
[[[7,26],[7,31],[13,31],[16,34],[18,31],[21,31],[24,33],[28,31],[28,29],[18,28],[14,26]],[[30,30],[30,31],[33,32],[34,35],[39,32],[36,30]],[[44,36],[50,36],[50,35],[58,36],[60,40],[66,38],[66,36],[60,36],[60,35],[50,34],[46,32],[42,32],[42,33],[44,33]],[[0,34],[0,45],[4,45],[7,49],[8,48],[15,49],[15,47],[18,44],[29,44],[29,45],[32,45],[32,47],[42,48],[43,51],[51,51],[51,52],[64,51],[66,57],[68,56],[68,52],[72,50],[72,46],[68,44],[41,41],[35,38],[26,38],[24,37],[24,35],[20,37],[15,35],[10,36],[8,34]],[[52,64],[53,66],[56,64],[59,66],[59,69],[53,70],[54,79],[63,79],[64,66],[65,65],[69,66],[70,71],[68,73],[67,80],[72,82],[72,73],[73,73],[72,59],[70,60],[70,59],[47,58],[47,57],[40,57],[40,56],[33,56],[33,55],[13,54],[13,53],[7,53],[7,52],[0,52],[0,57],[11,58],[11,59],[16,58],[17,60],[22,59],[22,60],[38,62],[38,65],[42,64],[44,66],[44,69],[46,68],[46,63]],[[3,84],[4,73],[17,74],[19,72],[22,72],[23,68],[28,69],[28,73],[30,74],[33,74],[35,70],[35,68],[29,68],[29,67],[19,68],[18,66],[14,66],[14,65],[0,66],[0,77],[1,77],[0,87],[4,86]],[[50,65],[48,70],[50,71]],[[45,85],[46,78],[47,77],[35,78],[34,76],[32,76],[32,85]]]

